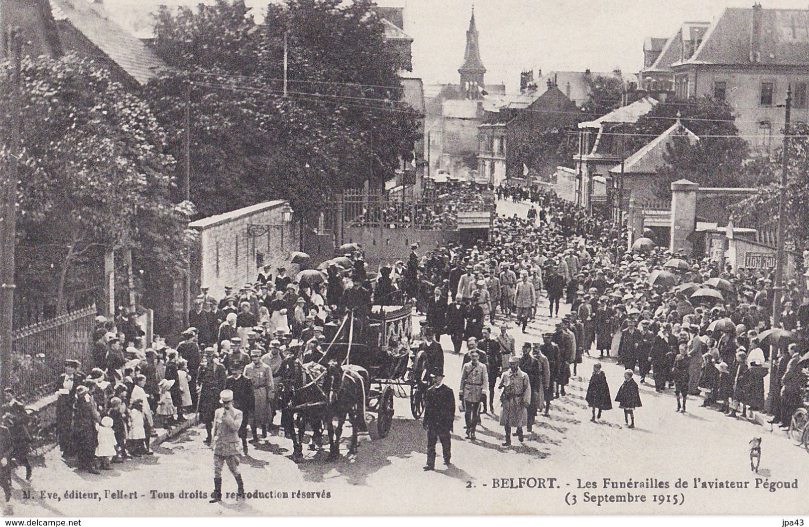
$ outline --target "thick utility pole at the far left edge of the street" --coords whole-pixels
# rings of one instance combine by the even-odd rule
[[[6,32],[6,27],[0,27]],[[16,29],[8,32],[3,40],[7,49],[0,51],[0,57],[11,57],[11,119],[3,127],[2,136],[6,141],[6,154],[0,159],[2,171],[2,263],[0,263],[0,390],[9,385],[11,352],[14,343],[14,272],[15,239],[17,223],[17,179],[19,179],[20,131],[22,129],[22,95],[20,89],[20,61],[22,41]]]

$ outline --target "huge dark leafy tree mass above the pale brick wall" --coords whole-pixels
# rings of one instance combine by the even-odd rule
[[[401,102],[400,59],[373,5],[287,0],[261,24],[241,0],[160,11],[155,49],[178,73],[148,97],[179,153],[191,82],[191,198],[201,215],[282,198],[311,218],[334,192],[380,184],[409,156],[418,116]]]

